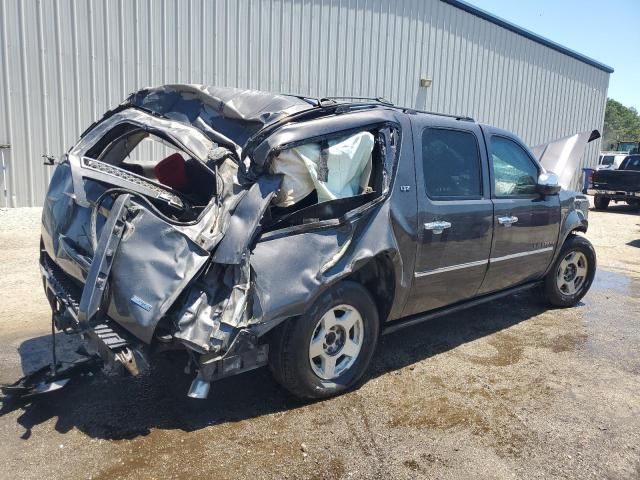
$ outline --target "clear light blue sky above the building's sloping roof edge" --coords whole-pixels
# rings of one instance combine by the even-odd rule
[[[609,97],[640,111],[640,0],[466,0],[613,67]]]

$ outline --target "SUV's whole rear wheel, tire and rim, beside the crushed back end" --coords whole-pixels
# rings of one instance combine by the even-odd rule
[[[368,290],[355,282],[340,282],[304,315],[274,332],[271,371],[299,398],[338,395],[362,378],[378,332],[378,311]]]

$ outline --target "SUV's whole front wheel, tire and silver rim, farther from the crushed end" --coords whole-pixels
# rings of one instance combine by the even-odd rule
[[[544,280],[545,296],[555,307],[571,307],[585,296],[596,273],[596,252],[591,242],[569,235]]]

